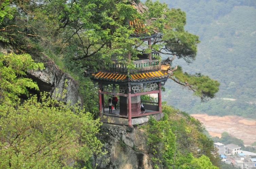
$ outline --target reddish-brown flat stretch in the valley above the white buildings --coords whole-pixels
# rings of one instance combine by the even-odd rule
[[[226,131],[230,135],[242,139],[245,145],[256,141],[256,120],[248,120],[239,116],[209,116],[207,114],[191,114],[201,121],[211,136],[221,137]]]

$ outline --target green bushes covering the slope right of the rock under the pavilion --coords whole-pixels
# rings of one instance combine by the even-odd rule
[[[202,124],[171,106],[163,105],[163,112],[163,119],[151,117],[146,125],[154,168],[217,168],[217,152]]]

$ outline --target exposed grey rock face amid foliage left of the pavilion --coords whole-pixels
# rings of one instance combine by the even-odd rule
[[[6,46],[0,42],[0,52],[8,54],[12,52],[15,53],[15,50],[12,47]],[[45,55],[42,55],[41,58],[34,57],[34,59],[36,62],[42,62],[45,69],[29,71],[28,76],[37,82],[41,92],[50,92],[51,97],[57,98],[58,100],[66,103],[70,103],[71,105],[75,103],[82,105],[82,97],[78,93],[78,83],[71,76],[60,70],[58,66],[56,66],[54,62]],[[65,83],[67,84],[66,87]],[[62,97],[64,90],[67,91]]]

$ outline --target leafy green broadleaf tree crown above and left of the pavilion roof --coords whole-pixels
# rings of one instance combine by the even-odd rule
[[[128,1],[45,1],[28,8],[33,14],[30,29],[45,47],[62,54],[70,70],[107,64],[113,54],[118,60],[128,51],[138,54],[132,45],[139,40],[130,38],[133,29],[126,24],[137,12]]]

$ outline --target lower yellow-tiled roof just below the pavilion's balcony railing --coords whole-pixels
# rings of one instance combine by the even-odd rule
[[[168,76],[168,73],[161,70],[153,72],[135,73],[131,74],[130,78],[128,79],[127,74],[99,71],[96,74],[92,74],[92,76],[94,79],[108,81],[147,81],[165,78]]]

